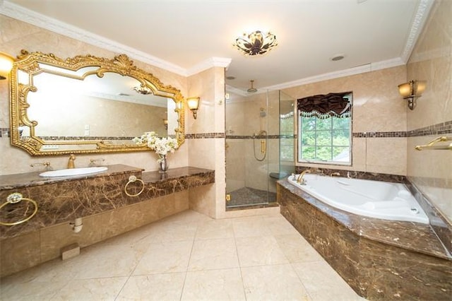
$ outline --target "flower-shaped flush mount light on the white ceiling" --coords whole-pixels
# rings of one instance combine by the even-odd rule
[[[262,33],[260,30],[249,34],[244,33],[242,37],[237,37],[234,43],[234,47],[248,56],[266,54],[277,45],[275,35]]]

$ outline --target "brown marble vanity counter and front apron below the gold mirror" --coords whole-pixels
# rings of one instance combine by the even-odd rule
[[[39,208],[27,223],[0,226],[1,239],[210,184],[215,179],[214,171],[196,167],[174,168],[166,175],[142,172],[141,168],[126,165],[108,167],[105,172],[80,177],[42,178],[39,172],[0,176],[0,200],[6,200],[13,192],[19,192],[37,201]],[[143,179],[145,186],[143,189],[143,184],[138,181],[128,185],[131,195],[143,189],[135,197],[127,196],[124,191],[131,175]],[[0,212],[0,220],[6,223],[21,220],[24,212],[30,210],[26,208],[26,202],[9,206],[9,210]]]

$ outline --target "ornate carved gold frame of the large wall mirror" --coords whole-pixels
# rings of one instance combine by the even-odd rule
[[[83,137],[82,136],[65,136],[61,133],[57,136],[42,137],[37,136],[36,127],[44,120],[32,120],[29,118],[30,103],[28,96],[40,89],[39,86],[33,84],[35,76],[42,73],[49,73],[55,76],[64,76],[64,78],[73,78],[76,81],[84,81],[85,78],[104,78],[107,73],[117,73],[121,76],[128,77],[133,81],[138,81],[141,88],[146,90],[141,94],[152,94],[167,99],[167,102],[174,103],[169,108],[174,109],[177,114],[177,122],[174,121],[172,134],[175,136],[179,146],[184,143],[184,98],[180,90],[171,85],[163,85],[158,78],[151,73],[147,73],[142,69],[133,65],[133,61],[126,56],[120,54],[114,59],[106,59],[102,57],[93,57],[92,55],[76,56],[73,58],[60,59],[54,54],[44,54],[42,52],[29,53],[25,50],[21,51],[17,60],[13,64],[11,70],[11,106],[10,106],[10,123],[11,123],[11,145],[22,148],[30,155],[65,155],[69,153],[117,153],[130,151],[146,151],[148,148],[144,145],[136,145],[129,138],[126,143],[122,143],[121,139],[115,141],[115,137]],[[117,76],[117,77],[121,77]],[[56,78],[57,79],[57,78]],[[103,80],[103,79],[102,79]],[[56,81],[57,82],[57,81]],[[57,85],[57,83],[55,84]],[[58,88],[57,86],[55,88]],[[75,90],[75,89],[73,89]],[[58,95],[61,100],[68,98],[73,90],[67,90],[66,93]],[[133,93],[137,93],[133,91]],[[171,99],[171,100],[169,100]],[[114,101],[114,100],[112,100]],[[37,106],[39,102],[33,104]],[[60,105],[57,105],[60,106]],[[61,101],[62,110],[72,110],[72,104]],[[90,110],[89,107],[85,110]],[[168,109],[169,111],[169,109]],[[88,112],[88,111],[87,111]],[[124,112],[123,112],[124,113]],[[102,112],[98,112],[102,114]],[[105,116],[103,116],[105,118]],[[46,115],[52,121],[52,116]],[[117,117],[112,116],[111,122],[114,124]],[[175,119],[175,118],[174,118]],[[45,120],[47,122],[47,120]],[[160,121],[168,126],[168,120]],[[132,123],[132,122],[131,122]],[[140,120],[135,121],[140,123]],[[58,125],[57,125],[58,126]],[[25,131],[24,131],[25,129]],[[86,128],[85,128],[86,129]],[[147,131],[153,131],[148,129]],[[130,133],[130,136],[141,136],[143,132]],[[113,139],[110,140],[109,138]],[[124,141],[123,140],[123,141]],[[116,142],[116,143],[115,143]]]

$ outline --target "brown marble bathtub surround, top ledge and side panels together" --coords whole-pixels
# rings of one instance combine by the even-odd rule
[[[450,300],[452,256],[429,225],[357,216],[278,182],[281,213],[369,300]]]

